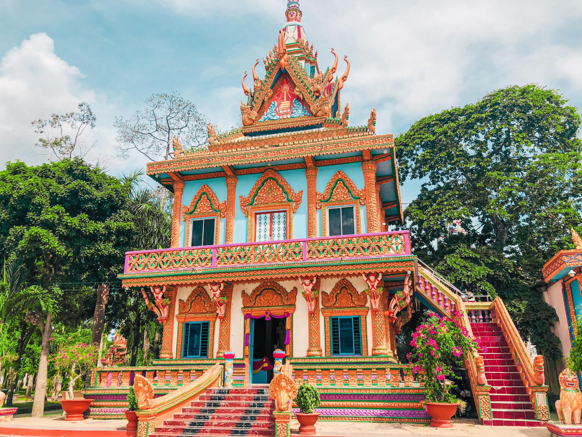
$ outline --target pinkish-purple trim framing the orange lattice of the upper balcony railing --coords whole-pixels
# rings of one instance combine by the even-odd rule
[[[402,235],[404,238],[404,252],[403,253],[391,253],[386,255],[370,255],[370,256],[355,256],[355,257],[340,257],[340,258],[324,258],[328,261],[340,260],[340,259],[370,259],[370,258],[385,258],[385,257],[392,257],[392,256],[401,256],[401,255],[411,255],[410,252],[410,231],[391,231],[391,232],[372,232],[370,234],[351,234],[351,235],[332,235],[332,236],[325,236],[325,237],[312,237],[312,238],[294,238],[294,239],[285,239],[285,240],[276,240],[276,241],[254,241],[250,243],[233,243],[233,244],[219,244],[219,245],[211,245],[211,246],[190,246],[190,247],[182,247],[182,248],[167,248],[167,249],[152,249],[148,251],[132,251],[126,252],[125,254],[125,266],[123,269],[124,273],[127,273],[127,269],[130,263],[130,255],[137,255],[137,254],[147,254],[147,253],[154,253],[154,252],[170,252],[170,251],[187,251],[191,249],[196,250],[204,250],[207,249],[212,255],[212,262],[211,266],[200,266],[200,267],[186,267],[186,268],[176,268],[176,269],[155,269],[155,270],[144,270],[144,272],[179,272],[181,270],[193,270],[193,269],[208,269],[208,267],[217,267],[217,256],[218,256],[218,249],[220,248],[237,248],[241,246],[256,246],[256,245],[269,245],[269,244],[290,244],[294,242],[301,242],[302,250],[303,250],[303,260],[294,260],[294,261],[285,261],[291,263],[297,262],[304,262],[307,261],[307,243],[310,241],[326,241],[329,239],[347,239],[347,238],[363,238],[363,237],[379,237],[384,235]],[[320,258],[321,259],[321,258]],[[283,262],[283,261],[282,261]],[[259,266],[265,265],[267,262],[262,263],[246,263],[247,266]],[[229,267],[229,265],[219,266],[219,267]]]

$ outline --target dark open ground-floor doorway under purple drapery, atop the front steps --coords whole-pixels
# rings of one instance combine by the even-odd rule
[[[268,384],[273,379],[273,352],[276,349],[285,350],[286,322],[285,317],[251,319],[251,384]]]

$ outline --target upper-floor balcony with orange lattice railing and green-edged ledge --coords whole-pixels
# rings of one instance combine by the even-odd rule
[[[411,258],[409,231],[127,252],[120,277],[125,281],[274,269],[292,274],[307,266],[317,266],[321,272],[325,266],[361,264],[365,268],[403,258]]]

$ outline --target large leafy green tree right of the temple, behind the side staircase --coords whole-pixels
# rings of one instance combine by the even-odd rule
[[[534,84],[424,117],[396,139],[400,181],[422,179],[407,207],[413,248],[460,288],[502,297],[523,337],[559,357],[541,267],[572,248],[581,223],[580,115]],[[466,232],[448,232],[459,220]]]

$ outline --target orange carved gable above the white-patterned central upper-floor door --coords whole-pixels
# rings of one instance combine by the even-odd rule
[[[267,170],[251,188],[249,195],[245,198],[240,196],[240,209],[247,217],[249,212],[247,206],[251,205],[272,205],[274,203],[293,203],[293,213],[297,212],[303,190],[295,193],[287,181],[275,170]]]

